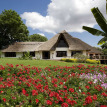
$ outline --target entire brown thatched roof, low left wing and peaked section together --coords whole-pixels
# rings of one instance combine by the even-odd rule
[[[101,53],[99,50],[81,41],[80,39],[72,37],[65,30],[56,34],[53,38],[46,42],[16,42],[9,45],[9,47],[2,50],[2,52],[54,51],[61,36],[63,36],[67,42],[69,50],[86,50],[89,51],[89,53]]]

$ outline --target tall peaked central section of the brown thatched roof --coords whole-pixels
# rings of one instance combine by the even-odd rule
[[[70,34],[68,34],[65,30],[56,34],[53,38],[45,42],[39,47],[39,50],[41,51],[48,51],[48,50],[55,50],[56,44],[60,36],[65,38],[66,42],[68,43],[69,50],[91,50],[91,47],[89,47],[88,44],[81,41],[78,38],[72,37]]]

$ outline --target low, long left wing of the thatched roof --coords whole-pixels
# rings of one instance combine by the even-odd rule
[[[41,44],[44,42],[16,42],[12,45],[9,45],[2,52],[27,52],[35,51]]]

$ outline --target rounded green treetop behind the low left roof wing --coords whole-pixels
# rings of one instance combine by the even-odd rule
[[[44,36],[41,36],[39,34],[33,34],[33,35],[30,35],[28,37],[28,41],[38,41],[38,42],[45,42],[47,41],[48,39]]]

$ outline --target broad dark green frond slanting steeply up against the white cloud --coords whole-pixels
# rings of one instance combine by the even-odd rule
[[[91,9],[98,25],[101,27],[101,29],[107,33],[107,21],[104,18],[104,16],[102,15],[102,13],[100,12],[100,10],[98,8],[92,8]]]

